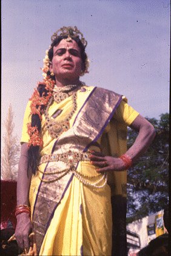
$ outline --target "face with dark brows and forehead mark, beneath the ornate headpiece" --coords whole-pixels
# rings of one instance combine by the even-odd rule
[[[60,79],[76,79],[82,69],[81,50],[76,41],[62,39],[58,46],[53,47],[53,59],[50,71]]]

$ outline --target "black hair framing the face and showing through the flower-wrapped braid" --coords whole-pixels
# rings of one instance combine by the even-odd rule
[[[59,36],[58,38],[56,38],[53,43],[51,44],[51,47],[49,49],[48,55],[49,55],[49,59],[50,61],[52,61],[53,59],[53,47],[57,46],[60,41],[62,39],[67,38],[67,36]],[[87,54],[85,53],[85,47],[82,44],[81,40],[78,37],[73,38],[73,40],[76,41],[76,43],[78,44],[78,47],[81,50],[81,59],[82,59],[82,71],[85,71],[85,61],[87,59]],[[52,76],[50,74],[50,71],[47,71],[47,75],[50,76],[51,79],[55,80],[55,76]],[[39,95],[42,97],[43,93],[44,96],[47,96],[48,91],[45,90],[45,85],[44,84],[39,84],[38,85],[38,91],[39,91]],[[37,108],[39,107],[39,105],[36,106]],[[45,105],[41,105],[41,110],[43,110],[45,108]],[[32,122],[31,122],[31,126],[32,127],[37,127],[39,133],[41,132],[41,119],[39,118],[38,114],[32,114]],[[32,173],[35,174],[36,173],[36,169],[38,166],[38,162],[39,162],[39,146],[33,146],[31,145],[29,148],[29,163],[28,163],[28,169],[27,171],[29,171],[29,169],[32,170]]]

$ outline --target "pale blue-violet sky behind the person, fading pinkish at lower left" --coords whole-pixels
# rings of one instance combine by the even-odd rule
[[[141,115],[169,112],[169,0],[2,0],[2,137],[8,106],[21,137],[25,106],[50,37],[77,26],[87,40],[87,85],[124,94]]]

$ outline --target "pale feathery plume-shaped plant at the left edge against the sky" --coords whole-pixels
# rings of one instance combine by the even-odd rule
[[[8,107],[7,118],[5,119],[5,135],[3,136],[4,148],[1,155],[1,179],[16,180],[19,161],[18,137],[13,136],[12,105]]]

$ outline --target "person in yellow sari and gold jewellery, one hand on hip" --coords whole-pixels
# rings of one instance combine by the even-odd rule
[[[126,170],[155,136],[124,96],[79,80],[86,45],[77,27],[53,34],[25,110],[15,236],[27,251],[33,231],[35,255],[126,255]]]

